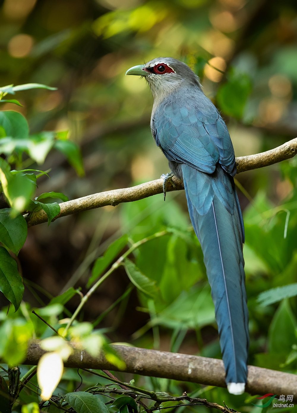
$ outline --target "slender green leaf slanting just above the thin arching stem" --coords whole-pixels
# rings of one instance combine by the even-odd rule
[[[102,257],[96,259],[95,264],[92,269],[92,275],[88,280],[87,287],[103,273],[103,271],[110,265],[110,263],[115,259],[117,254],[119,254],[128,242],[127,235],[123,235],[118,240],[115,240],[108,249],[105,251]]]

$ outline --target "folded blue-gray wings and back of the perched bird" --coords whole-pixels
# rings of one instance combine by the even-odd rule
[[[235,155],[228,129],[202,92],[160,105],[152,124],[156,143],[170,161],[206,173],[213,173],[219,163],[230,175],[235,175]]]

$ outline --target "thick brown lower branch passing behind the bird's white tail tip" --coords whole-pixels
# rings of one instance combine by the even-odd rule
[[[126,368],[123,371],[127,373],[226,387],[222,360],[138,347],[120,345],[112,347],[125,361]],[[40,347],[38,341],[31,342],[24,364],[37,365],[44,353],[46,351]],[[75,348],[65,362],[65,366],[119,371],[116,366],[106,361],[103,354],[92,357],[86,351]],[[246,391],[250,394],[293,394],[297,397],[297,375],[248,366]]]

